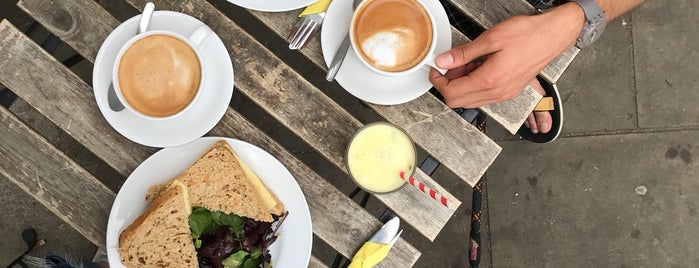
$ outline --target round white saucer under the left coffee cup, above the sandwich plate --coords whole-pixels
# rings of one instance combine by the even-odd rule
[[[112,82],[112,68],[119,49],[138,29],[140,15],[119,25],[104,40],[95,59],[92,85],[97,106],[107,122],[124,137],[152,147],[170,147],[188,143],[211,130],[228,108],[233,95],[233,64],[226,46],[214,35],[201,50],[205,66],[204,91],[186,113],[167,120],[148,120],[124,109],[112,111],[107,89]],[[201,21],[173,11],[155,11],[149,29],[169,30],[189,36]]]

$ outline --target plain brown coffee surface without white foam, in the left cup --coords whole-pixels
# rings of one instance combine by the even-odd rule
[[[118,70],[121,95],[153,117],[177,114],[197,95],[201,65],[185,42],[165,34],[146,36],[124,52]]]

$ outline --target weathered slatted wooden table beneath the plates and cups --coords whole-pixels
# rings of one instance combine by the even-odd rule
[[[102,1],[20,0],[17,5],[86,60],[94,62],[100,45],[120,23],[112,15],[113,1],[102,5],[98,2]],[[123,4],[130,5],[135,14],[145,2],[125,0]],[[267,47],[255,32],[246,31],[249,25],[261,22],[273,35],[284,38],[300,11],[246,11],[222,0],[155,2],[158,10],[183,12],[209,25],[228,46],[235,70],[235,90],[267,113],[264,117],[245,118],[236,110],[239,107],[229,107],[207,135],[241,139],[277,157],[307,197],[313,233],[340,254],[351,257],[380,226],[379,220],[331,183],[338,178],[319,175],[257,127],[265,124],[264,120],[276,121],[295,134],[292,138],[305,142],[344,171],[345,146],[353,133],[368,123],[340,105],[347,101],[346,97],[338,100],[337,95],[326,95],[326,90],[336,85],[323,81],[326,66],[318,37],[299,54],[280,46]],[[534,13],[523,0],[452,0],[450,4],[483,27],[516,14]],[[453,45],[469,41],[453,28],[452,37]],[[91,82],[81,80],[8,21],[0,23],[0,40],[0,83],[118,173],[120,182],[157,150],[119,135],[99,112]],[[571,50],[559,57],[542,75],[555,82],[576,53]],[[299,70],[298,65],[292,64],[299,59],[320,71]],[[527,88],[514,100],[482,110],[514,132],[540,97]],[[374,116],[406,129],[420,148],[469,185],[479,180],[501,151],[429,93],[402,105],[366,105]],[[105,178],[87,172],[66,154],[65,148],[47,141],[6,108],[0,108],[0,121],[0,173],[95,245],[104,246],[107,218],[118,187],[105,186]],[[461,203],[427,174],[417,172],[415,176],[453,200],[453,206],[440,206],[410,187],[376,198],[432,241]],[[409,241],[401,239],[379,266],[409,267],[420,254]],[[310,266],[326,264],[313,257]]]

